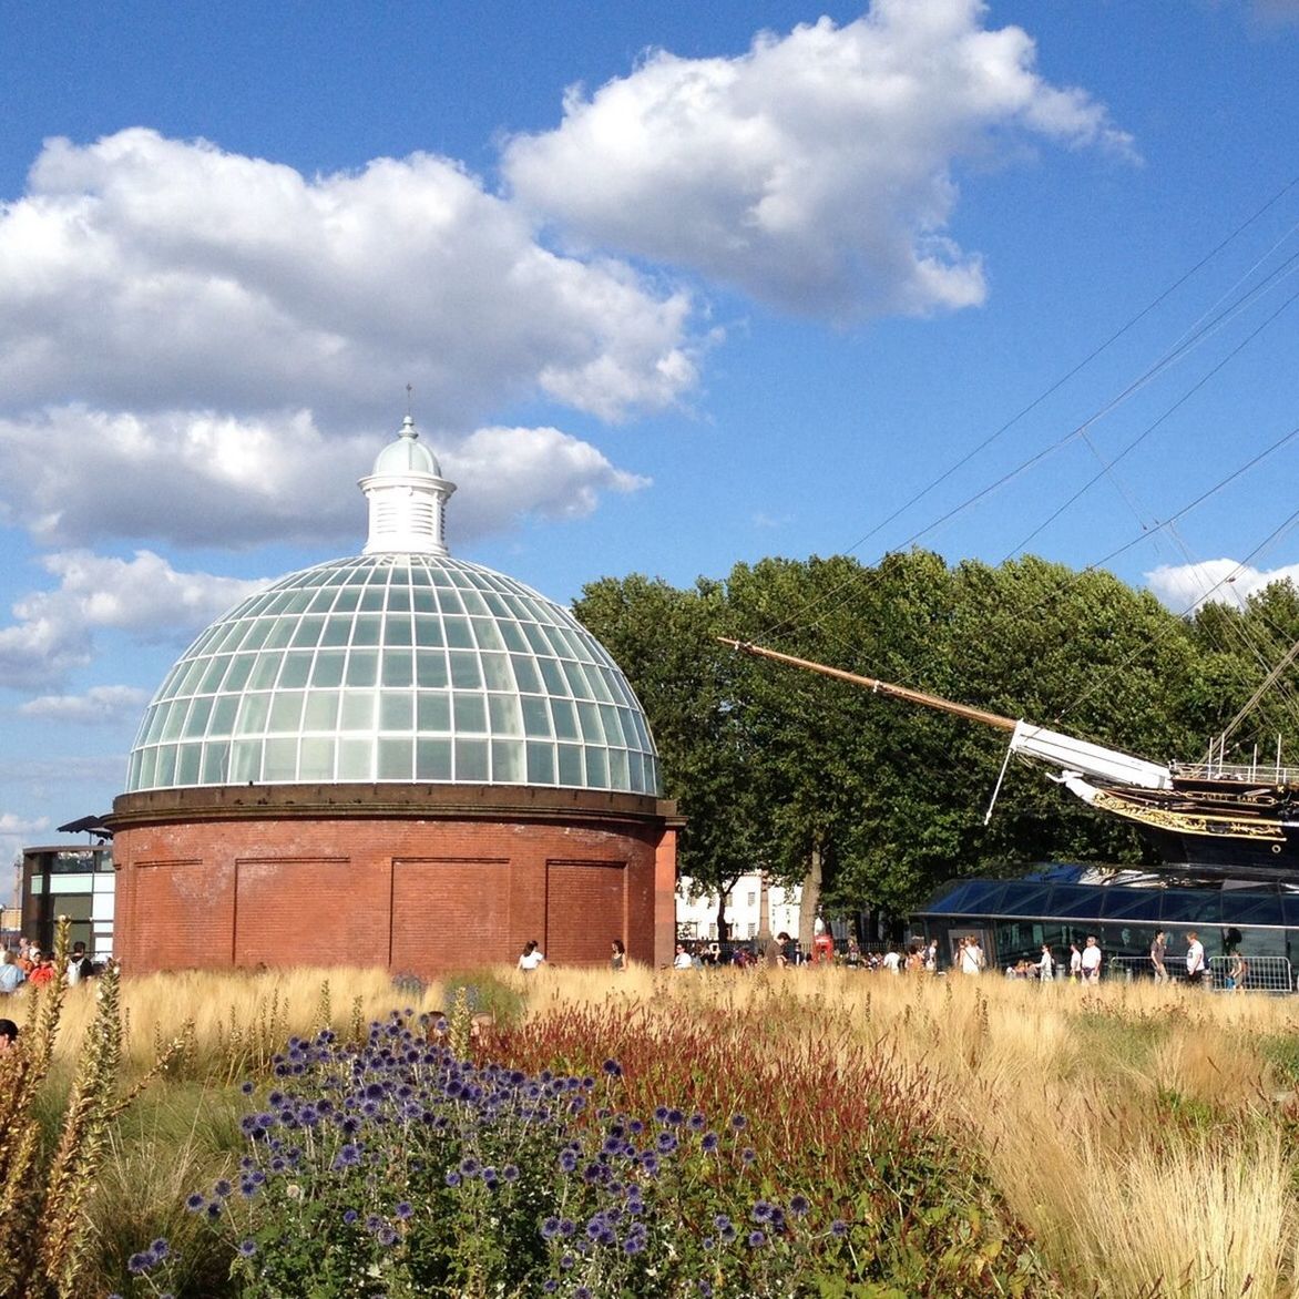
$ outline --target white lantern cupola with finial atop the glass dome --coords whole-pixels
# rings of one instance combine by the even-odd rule
[[[456,485],[442,477],[438,457],[420,442],[410,416],[360,487],[370,503],[370,535],[362,553],[447,553],[447,500]]]

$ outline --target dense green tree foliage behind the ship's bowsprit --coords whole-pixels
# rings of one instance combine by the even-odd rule
[[[688,590],[607,578],[575,612],[650,714],[665,794],[688,818],[682,872],[725,892],[755,868],[801,882],[816,859],[826,908],[844,912],[905,912],[959,876],[1134,863],[1146,850],[1026,764],[1009,765],[985,824],[1004,730],[739,655],[718,637],[1159,761],[1200,756],[1299,638],[1289,583],[1186,620],[1108,573],[1035,557],[950,568],[918,549],[874,568],[768,559]],[[1263,734],[1269,759],[1278,734],[1299,752],[1287,678],[1299,673],[1238,731],[1235,760]]]

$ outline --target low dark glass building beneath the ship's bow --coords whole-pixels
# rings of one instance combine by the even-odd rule
[[[990,968],[1035,961],[1050,943],[1056,960],[1069,944],[1096,937],[1107,960],[1142,961],[1155,933],[1168,935],[1173,965],[1195,930],[1208,957],[1241,947],[1251,957],[1299,957],[1299,891],[1287,885],[1164,883],[1121,873],[1100,882],[1087,866],[1055,866],[1022,879],[953,879],[912,916],[916,930],[937,938],[950,964],[956,944],[977,934]]]

